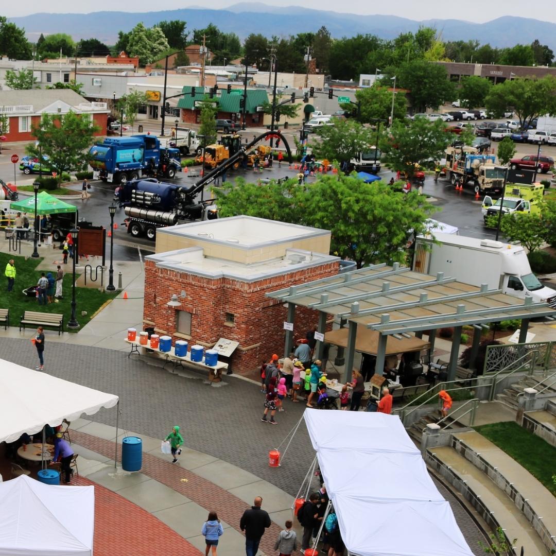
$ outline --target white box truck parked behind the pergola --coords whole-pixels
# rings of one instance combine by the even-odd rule
[[[444,272],[459,282],[489,289],[534,302],[548,301],[556,308],[556,291],[543,286],[531,271],[521,245],[474,237],[435,233],[419,236],[415,242],[413,270],[424,274]]]

